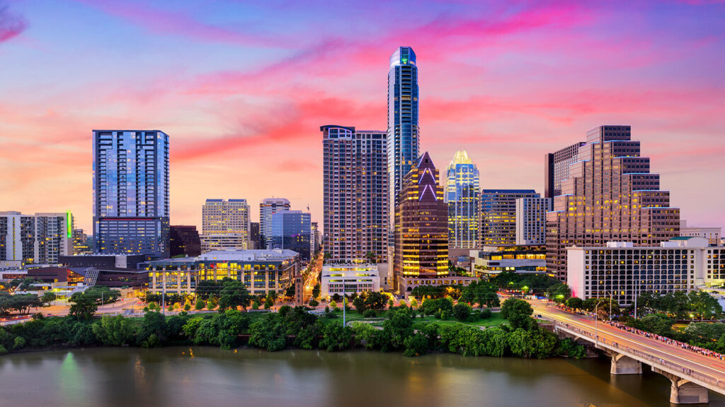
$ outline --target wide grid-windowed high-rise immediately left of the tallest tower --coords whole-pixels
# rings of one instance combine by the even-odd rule
[[[325,252],[332,261],[384,263],[389,234],[386,133],[334,125],[320,130]]]

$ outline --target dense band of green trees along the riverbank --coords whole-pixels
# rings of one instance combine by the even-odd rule
[[[240,335],[247,334],[249,345],[267,351],[294,347],[326,351],[368,348],[401,351],[406,356],[432,352],[525,358],[584,355],[581,346],[568,340],[559,341],[552,332],[539,327],[531,313],[531,306],[525,301],[507,300],[502,306],[502,315],[510,325],[487,330],[463,324],[439,326],[418,322],[417,313],[405,306],[389,311],[382,330],[362,322],[343,327],[334,320],[333,313],[315,316],[301,307],[289,306],[282,306],[277,313],[265,314],[253,323],[247,313],[233,309],[202,316],[181,313],[167,317],[156,311],[146,312],[143,318],[34,316],[24,324],[0,327],[0,353],[91,345],[152,348],[194,344],[231,349],[241,345]]]

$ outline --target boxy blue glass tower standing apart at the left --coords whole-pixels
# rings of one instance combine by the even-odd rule
[[[169,253],[169,136],[93,130],[97,253]]]

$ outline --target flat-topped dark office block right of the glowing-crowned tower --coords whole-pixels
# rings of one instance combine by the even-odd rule
[[[497,246],[516,244],[516,200],[539,198],[531,189],[481,190],[481,228],[479,245]]]

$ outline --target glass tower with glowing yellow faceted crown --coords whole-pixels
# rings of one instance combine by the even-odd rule
[[[456,151],[448,164],[448,246],[476,248],[479,235],[479,169],[468,153]]]

